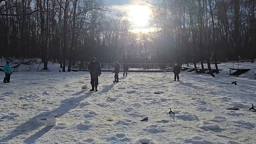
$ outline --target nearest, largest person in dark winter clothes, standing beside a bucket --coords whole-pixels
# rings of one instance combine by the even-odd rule
[[[89,72],[91,74],[91,85],[92,89],[90,91],[94,91],[94,86],[95,86],[95,91],[97,90],[98,87],[98,77],[101,75],[101,69],[100,69],[100,63],[96,60],[96,58],[92,58],[92,62],[89,64]]]

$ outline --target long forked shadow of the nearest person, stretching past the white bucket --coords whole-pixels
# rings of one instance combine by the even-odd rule
[[[80,92],[77,92],[73,95],[79,95]],[[38,114],[37,116],[34,116],[33,118],[30,118],[27,122],[24,124],[21,124],[20,126],[16,127],[14,130],[10,132],[10,134],[6,137],[3,137],[0,139],[0,142],[6,142],[7,140],[11,140],[12,138],[19,136],[20,134],[26,134],[27,132],[31,132],[33,130],[38,129],[42,124],[38,124],[36,121],[38,118],[45,118],[50,113],[56,113],[58,117],[63,116],[66,114],[69,110],[76,108],[79,105],[79,102],[84,100],[85,98],[88,98],[92,93],[88,92],[85,95],[78,96],[78,97],[71,97],[66,98],[61,101],[61,104],[58,108],[48,111],[48,112],[42,112],[41,114]],[[51,130],[52,127],[45,127],[36,134],[30,136],[27,138],[24,142],[26,143],[34,143],[36,139],[40,138],[40,136],[44,135],[46,132]]]

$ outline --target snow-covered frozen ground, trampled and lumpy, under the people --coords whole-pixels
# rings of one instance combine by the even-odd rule
[[[228,69],[215,78],[182,72],[180,82],[171,73],[130,72],[119,83],[103,72],[98,92],[81,92],[88,72],[50,67],[20,68],[0,83],[0,144],[256,144],[256,113],[248,110],[256,105],[255,70],[244,78],[228,77]],[[52,112],[57,125],[47,127]]]

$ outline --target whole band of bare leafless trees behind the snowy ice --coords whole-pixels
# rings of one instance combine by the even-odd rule
[[[157,0],[151,32],[130,32],[103,0],[0,0],[0,56],[76,61],[216,63],[256,57],[255,0]],[[153,30],[154,29],[154,30]],[[212,74],[213,75],[213,74]]]

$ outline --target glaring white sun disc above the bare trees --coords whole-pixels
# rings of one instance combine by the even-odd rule
[[[148,6],[131,5],[129,7],[128,16],[130,17],[130,20],[138,27],[148,24],[150,14],[151,11]]]

